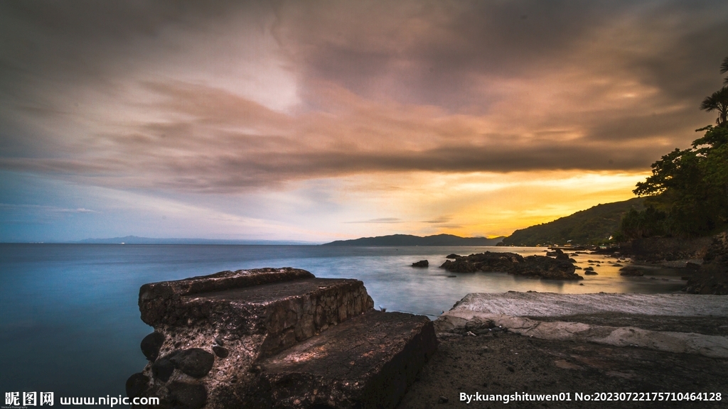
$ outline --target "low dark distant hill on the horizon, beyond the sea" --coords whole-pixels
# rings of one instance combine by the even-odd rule
[[[362,237],[353,240],[336,240],[323,246],[494,246],[503,237],[487,239],[486,237],[459,237],[453,234],[437,234],[435,236],[413,236],[411,234],[392,234],[379,237]]]

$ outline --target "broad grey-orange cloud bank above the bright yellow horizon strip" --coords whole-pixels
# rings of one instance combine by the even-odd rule
[[[0,9],[0,167],[108,186],[220,192],[371,172],[645,170],[712,122],[697,105],[728,55],[724,1]],[[253,31],[277,41],[298,106],[212,86],[214,74],[138,74],[167,57],[204,73],[185,44],[204,46],[236,19],[272,22]],[[101,104],[103,118],[71,98],[86,89],[114,101]]]

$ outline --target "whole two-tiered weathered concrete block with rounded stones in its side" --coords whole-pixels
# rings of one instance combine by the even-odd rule
[[[317,350],[328,358],[320,365],[333,371],[353,365],[360,370],[354,383],[365,385],[347,389],[323,381],[331,386],[325,405],[364,408],[373,396],[396,404],[436,342],[426,317],[373,311],[363,282],[319,279],[300,269],[222,271],[147,284],[139,309],[154,333],[141,344],[149,365],[129,378],[127,394],[157,396],[170,408],[314,407],[319,400],[281,406],[279,395],[288,393],[282,391],[303,390],[298,383],[307,381],[294,376],[281,384],[274,372],[261,370],[267,358],[309,339],[325,340]],[[361,348],[346,357],[338,349],[355,344]]]

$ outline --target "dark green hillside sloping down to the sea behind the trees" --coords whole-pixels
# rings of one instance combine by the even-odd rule
[[[643,210],[643,198],[624,202],[598,204],[558,220],[516,230],[503,239],[504,245],[598,245],[620,228],[622,217],[629,211]]]

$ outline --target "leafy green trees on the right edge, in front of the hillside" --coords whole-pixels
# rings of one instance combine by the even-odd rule
[[[721,74],[728,72],[728,57]],[[728,77],[725,79],[728,84]],[[716,111],[692,147],[676,148],[652,164],[652,176],[637,183],[634,193],[646,196],[644,210],[630,210],[622,220],[620,239],[651,236],[699,237],[728,223],[728,86],[700,104]]]

